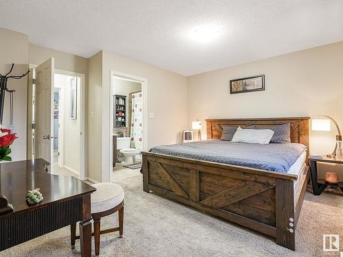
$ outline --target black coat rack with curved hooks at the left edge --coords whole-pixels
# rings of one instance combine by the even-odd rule
[[[27,71],[27,73],[23,75],[9,76],[13,70],[13,67],[14,67],[14,63],[12,63],[11,69],[6,75],[0,74],[0,124],[2,124],[3,103],[5,103],[5,93],[7,91],[8,93],[10,93],[10,125],[13,125],[13,93],[15,92],[15,90],[9,90],[7,88],[8,79],[21,79],[22,77],[25,77],[29,73],[29,71]]]

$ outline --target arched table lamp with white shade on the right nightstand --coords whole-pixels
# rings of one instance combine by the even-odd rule
[[[342,158],[343,159],[343,144],[342,144],[342,134],[338,123],[327,115],[319,115],[319,117],[324,117],[327,119],[312,119],[312,131],[330,131],[331,124],[330,120],[335,124],[338,135],[336,136],[336,145],[332,154],[328,154],[327,157],[330,158]]]

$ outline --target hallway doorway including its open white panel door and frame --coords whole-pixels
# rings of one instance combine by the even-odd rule
[[[28,88],[27,159],[43,158],[50,173],[85,180],[85,76],[54,69],[54,58],[29,68],[34,76]]]

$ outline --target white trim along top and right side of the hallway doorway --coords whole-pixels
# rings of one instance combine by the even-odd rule
[[[85,180],[86,178],[86,174],[87,174],[87,170],[86,170],[86,151],[84,149],[85,147],[85,96],[86,96],[86,79],[85,79],[85,75],[82,73],[76,73],[73,71],[64,71],[61,69],[55,69],[55,73],[57,74],[63,74],[63,75],[69,75],[69,76],[73,76],[73,77],[80,77],[81,79],[81,85],[80,85],[80,99],[81,99],[81,108],[80,110],[78,110],[78,112],[81,112],[81,115],[78,115],[78,117],[80,117],[80,180]]]

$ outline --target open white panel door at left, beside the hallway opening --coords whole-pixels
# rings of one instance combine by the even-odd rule
[[[54,58],[36,67],[36,88],[34,101],[34,158],[43,158],[50,165],[54,158],[54,120],[52,101],[54,99]]]

